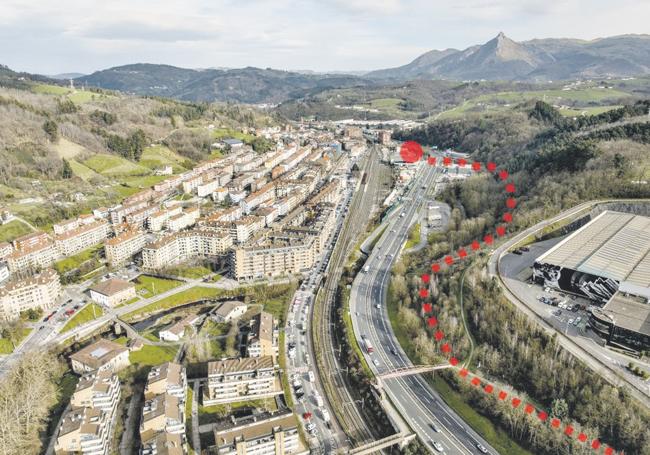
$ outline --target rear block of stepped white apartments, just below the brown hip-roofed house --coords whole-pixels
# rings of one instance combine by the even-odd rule
[[[79,378],[74,393],[70,397],[73,409],[101,409],[111,418],[120,401],[120,380],[110,371],[92,371]]]

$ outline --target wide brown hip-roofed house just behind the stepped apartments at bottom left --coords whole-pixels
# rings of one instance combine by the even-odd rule
[[[72,371],[84,374],[90,371],[118,371],[128,367],[129,350],[121,344],[100,339],[70,356]]]

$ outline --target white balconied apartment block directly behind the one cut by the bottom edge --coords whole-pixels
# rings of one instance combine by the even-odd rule
[[[272,356],[208,363],[206,406],[274,397],[282,393]]]

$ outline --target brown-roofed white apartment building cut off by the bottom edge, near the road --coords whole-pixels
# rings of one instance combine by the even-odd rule
[[[309,450],[302,445],[293,412],[248,416],[224,421],[214,430],[215,452],[218,455],[303,455]]]

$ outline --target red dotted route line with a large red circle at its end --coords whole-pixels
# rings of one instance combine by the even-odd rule
[[[405,143],[405,144],[407,144],[407,143]],[[408,147],[406,149],[405,149],[404,146],[402,147],[402,151],[401,151],[402,157],[407,156],[407,157],[410,158],[413,155],[417,155],[418,148],[415,147],[412,143],[408,143],[408,144],[409,145],[408,145]],[[408,161],[408,160],[405,159],[405,161]],[[414,162],[414,161],[409,161],[409,162]],[[435,166],[437,164],[437,160],[436,160],[435,157],[428,157],[427,158],[427,163],[432,165],[432,166]],[[444,157],[442,159],[442,165],[443,166],[448,167],[448,166],[451,166],[452,164],[453,164],[453,161],[452,161],[452,159],[450,157]],[[460,159],[456,160],[456,164],[459,167],[465,167],[468,164],[468,162],[465,159],[460,158]],[[483,164],[481,164],[478,161],[474,161],[471,164],[471,168],[472,168],[472,170],[474,172],[479,172],[483,168]],[[490,162],[485,164],[485,169],[487,169],[491,173],[495,173],[497,171],[497,165],[496,165],[496,163],[490,161]],[[510,174],[505,169],[499,170],[497,175],[498,175],[498,177],[499,177],[499,179],[501,181],[506,181],[510,177]],[[517,206],[517,200],[512,196],[516,192],[516,188],[515,188],[514,183],[511,183],[511,182],[506,183],[505,187],[504,187],[504,190],[505,190],[505,193],[509,195],[508,198],[506,199],[506,207],[509,210],[512,210]],[[512,221],[513,221],[512,213],[511,212],[506,212],[503,215],[503,222],[504,223],[512,223]],[[495,233],[496,233],[497,236],[503,237],[506,234],[506,227],[503,226],[503,225],[497,226],[495,228]],[[484,245],[489,246],[489,245],[492,245],[493,243],[494,243],[494,235],[487,234],[487,235],[485,235],[483,237],[483,244]],[[462,248],[458,249],[457,258],[454,258],[454,256],[452,256],[452,255],[447,255],[447,256],[444,257],[443,262],[447,266],[450,267],[450,266],[452,266],[454,264],[454,262],[457,259],[458,260],[465,259],[468,256],[468,254],[467,254],[468,249],[471,249],[472,251],[477,251],[480,248],[481,248],[481,242],[479,242],[478,240],[474,240],[474,241],[472,241],[472,243],[468,247],[462,247]],[[442,270],[442,265],[440,263],[436,262],[436,263],[433,263],[431,265],[432,273],[439,273],[441,270]],[[420,278],[421,278],[422,282],[425,285],[428,285],[430,280],[431,280],[431,277],[428,274],[423,274]],[[420,290],[420,296],[423,299],[427,298],[429,296],[428,289],[427,288],[422,288]],[[431,313],[431,311],[433,311],[433,306],[430,303],[423,303],[422,304],[422,311],[423,311],[424,314]],[[430,328],[434,328],[434,327],[436,327],[438,325],[438,320],[435,318],[435,316],[428,316],[426,320],[427,320],[427,325]],[[441,342],[444,339],[444,337],[445,337],[445,335],[441,330],[436,330],[436,332],[434,333],[434,338],[435,338],[436,342]],[[450,354],[451,353],[451,346],[450,346],[449,343],[445,342],[440,346],[440,350],[444,354]],[[449,358],[449,363],[452,366],[455,367],[460,363],[460,361],[458,360],[458,358],[456,358],[456,357],[454,357],[452,355]],[[462,378],[466,378],[467,376],[470,375],[469,371],[466,368],[462,368],[462,367],[459,368],[458,374]],[[479,378],[476,375],[471,376],[470,383],[472,385],[476,386],[476,387],[480,387],[481,385],[484,384],[484,382],[481,380],[481,378]],[[494,392],[494,386],[492,384],[485,383],[483,385],[483,387],[482,387],[482,390],[487,394],[491,394],[491,393]],[[498,399],[499,400],[505,401],[505,399],[507,397],[508,397],[508,393],[506,391],[504,391],[504,390],[499,391],[499,393],[498,393]],[[518,398],[518,397],[513,397],[510,400],[510,404],[512,405],[513,408],[518,408],[519,406],[521,406],[522,400],[520,398]],[[530,403],[526,403],[526,405],[524,406],[524,412],[526,414],[536,413],[537,418],[541,422],[548,422],[549,421],[548,413],[546,413],[545,411],[536,410],[535,406],[533,406]],[[556,430],[560,430],[562,428],[562,422],[558,418],[550,419],[549,424],[550,424],[551,428],[556,429]],[[573,437],[574,428],[571,425],[566,425],[564,427],[563,433],[568,437]],[[587,442],[588,437],[587,437],[587,435],[585,433],[581,432],[581,433],[578,434],[577,439],[578,439],[578,441],[580,441],[582,443],[585,443],[585,442]],[[594,439],[591,442],[590,446],[591,446],[592,449],[598,451],[602,447],[602,444],[598,439]],[[605,453],[605,455],[613,455],[614,454],[614,449],[611,448],[611,447],[605,447],[604,448],[604,453]]]

